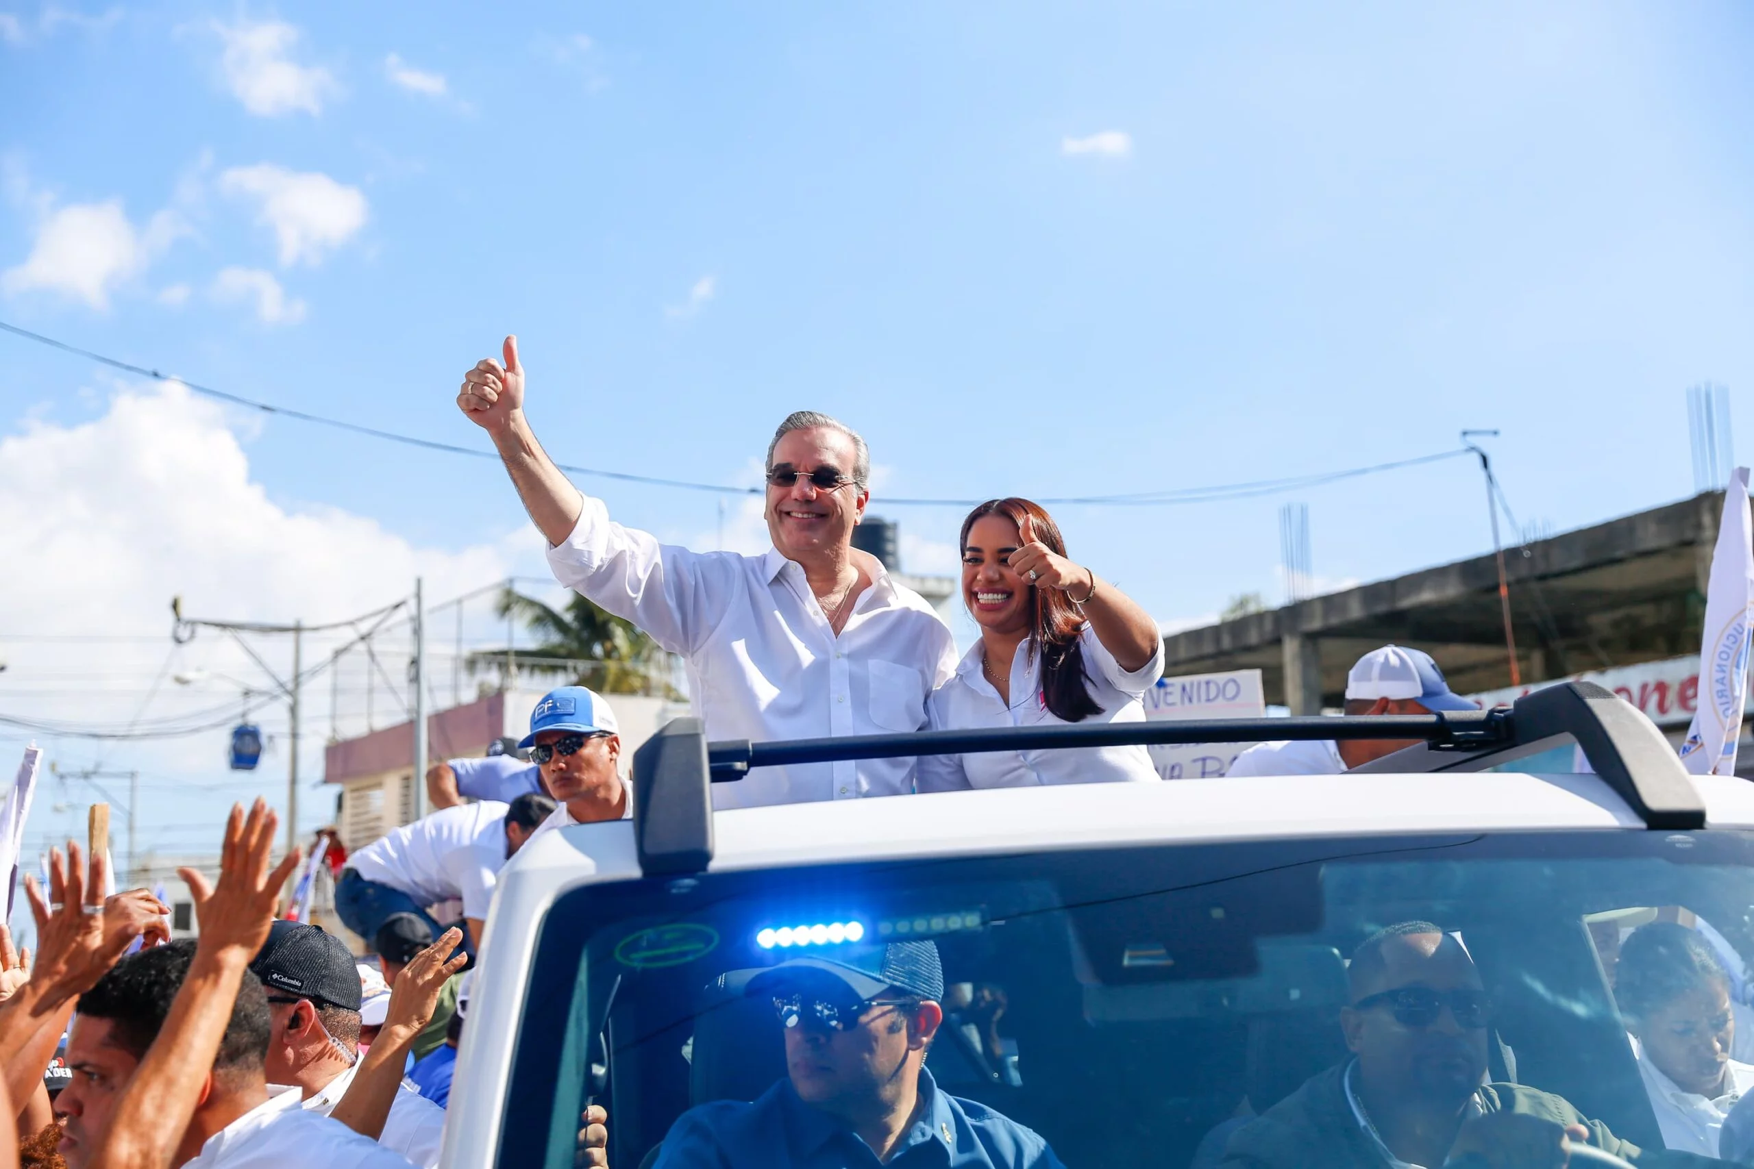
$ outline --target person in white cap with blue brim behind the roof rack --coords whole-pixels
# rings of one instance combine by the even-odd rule
[[[1479,710],[1452,694],[1430,654],[1384,645],[1358,659],[1345,677],[1349,715],[1431,715],[1440,710]],[[1338,775],[1412,747],[1417,740],[1280,740],[1256,743],[1237,755],[1230,778],[1251,775]]]

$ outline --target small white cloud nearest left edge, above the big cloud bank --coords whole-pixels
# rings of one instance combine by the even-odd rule
[[[58,210],[47,198],[32,202],[42,221],[25,263],[0,273],[0,291],[7,294],[49,291],[109,308],[111,293],[146,272],[188,230],[172,210],[158,212],[146,230],[137,230],[119,198]]]

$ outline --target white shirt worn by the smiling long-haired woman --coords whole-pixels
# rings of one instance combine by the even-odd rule
[[[1010,706],[986,680],[982,648],[975,641],[956,666],[956,675],[931,694],[933,731],[982,727],[1091,726],[1144,722],[1144,694],[1163,677],[1163,641],[1138,670],[1121,662],[1087,624],[1079,633],[1084,650],[1084,689],[1102,712],[1068,724],[1042,698],[1042,655],[1033,645],[1017,647],[1010,661]],[[951,792],[970,787],[1038,787],[1044,783],[1121,783],[1158,780],[1151,752],[1128,747],[1082,747],[1077,750],[1002,750],[968,755],[921,755],[919,790]]]

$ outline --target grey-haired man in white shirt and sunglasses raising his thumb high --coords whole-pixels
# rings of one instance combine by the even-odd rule
[[[763,556],[691,552],[609,519],[542,450],[524,417],[517,338],[481,361],[458,407],[493,438],[549,568],[602,608],[681,654],[709,738],[800,740],[919,731],[926,696],[956,670],[951,631],[852,549],[870,499],[870,454],[835,419],[798,412],[768,447]],[[898,796],[912,759],[763,768],[714,785],[714,806]]]

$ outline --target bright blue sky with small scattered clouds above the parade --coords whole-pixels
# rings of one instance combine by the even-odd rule
[[[1691,492],[1701,380],[1754,452],[1743,4],[0,12],[0,319],[460,443],[461,372],[517,331],[556,457],[719,484],[786,412],[830,410],[914,570],[949,566],[959,514],[886,491],[1223,484],[1500,428],[1519,517],[1563,529]],[[65,471],[11,507],[89,577],[77,605],[14,584],[14,627],[161,636],[179,591],[342,617],[403,566],[453,592],[540,570],[491,463],[0,352],[14,463]],[[225,487],[153,494],[209,459]],[[581,482],[716,538],[712,496]],[[1279,599],[1286,499],[1338,584],[1486,550],[1482,494],[1447,461],[1059,519],[1172,622]],[[81,561],[81,526],[139,499]],[[733,510],[731,536],[759,531]],[[307,538],[321,571],[209,563]]]

